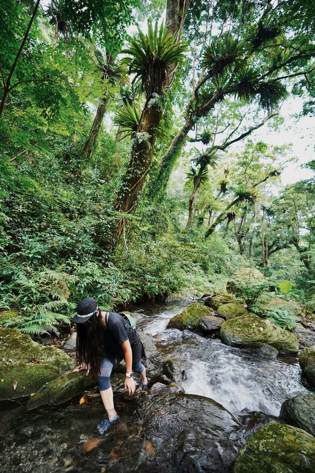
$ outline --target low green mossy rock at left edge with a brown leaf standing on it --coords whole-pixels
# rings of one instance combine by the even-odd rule
[[[0,362],[0,401],[28,397],[60,374],[57,366],[48,363]]]

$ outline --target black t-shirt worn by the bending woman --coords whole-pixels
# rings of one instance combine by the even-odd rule
[[[122,343],[129,340],[130,345],[132,345],[139,338],[137,332],[121,314],[109,312],[108,318],[106,315],[105,321],[106,329],[102,329],[105,351],[124,357]]]

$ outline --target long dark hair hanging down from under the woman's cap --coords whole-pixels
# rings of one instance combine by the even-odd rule
[[[104,356],[102,317],[96,314],[86,325],[77,323],[76,357],[80,365],[86,364],[93,378],[99,375],[99,366]]]

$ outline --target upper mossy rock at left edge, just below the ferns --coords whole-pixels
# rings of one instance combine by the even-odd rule
[[[40,361],[56,365],[66,371],[75,367],[75,362],[63,350],[56,347],[43,347],[12,328],[0,328],[0,359],[19,363]]]

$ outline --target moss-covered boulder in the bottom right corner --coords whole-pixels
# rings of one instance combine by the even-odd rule
[[[315,438],[297,427],[272,423],[239,451],[233,473],[314,473]]]

